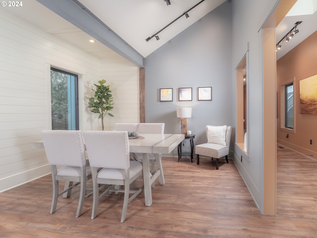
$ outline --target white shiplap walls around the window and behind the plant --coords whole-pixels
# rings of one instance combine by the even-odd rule
[[[80,129],[101,128],[87,97],[103,78],[115,99],[107,129],[114,121],[138,121],[139,69],[113,56],[101,61],[0,9],[0,192],[50,173],[44,149],[30,142],[51,128],[51,65],[80,74]]]

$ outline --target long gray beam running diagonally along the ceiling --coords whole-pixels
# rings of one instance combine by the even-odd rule
[[[37,0],[120,56],[143,66],[143,57],[78,0]]]

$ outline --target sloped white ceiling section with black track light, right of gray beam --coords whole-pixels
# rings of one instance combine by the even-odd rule
[[[201,0],[79,0],[94,15],[132,46],[147,57],[160,46],[208,14],[225,0],[205,0],[161,31],[159,40],[152,38],[160,29],[182,15]]]

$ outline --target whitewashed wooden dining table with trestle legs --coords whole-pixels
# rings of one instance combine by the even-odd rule
[[[159,154],[169,154],[185,136],[184,134],[140,134],[143,139],[129,139],[129,148],[131,153],[142,153],[143,161],[143,182],[145,205],[152,205],[151,184],[159,178],[159,184],[164,185],[164,173]],[[32,148],[44,148],[43,141],[34,141],[30,143]],[[157,163],[157,170],[152,175],[150,172],[149,154],[154,154]]]

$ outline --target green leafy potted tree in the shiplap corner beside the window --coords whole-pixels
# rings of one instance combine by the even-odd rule
[[[99,85],[94,84],[97,87],[96,90],[92,89],[95,92],[95,97],[89,98],[88,108],[90,108],[93,113],[99,114],[99,119],[101,119],[102,123],[102,129],[104,130],[105,116],[108,115],[110,117],[114,117],[111,113],[108,113],[108,111],[113,109],[113,98],[110,94],[110,85],[104,85],[106,80],[103,79],[98,82]]]

